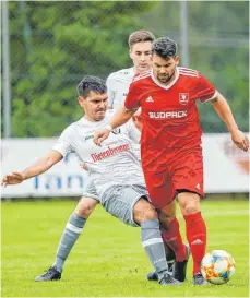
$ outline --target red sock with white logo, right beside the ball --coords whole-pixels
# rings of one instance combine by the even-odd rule
[[[201,212],[184,215],[186,234],[193,257],[193,274],[201,272],[201,261],[205,255],[206,227]]]

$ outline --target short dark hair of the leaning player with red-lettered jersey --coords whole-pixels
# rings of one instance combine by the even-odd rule
[[[90,92],[106,93],[107,86],[104,80],[94,75],[86,75],[78,85],[79,96],[86,97]]]

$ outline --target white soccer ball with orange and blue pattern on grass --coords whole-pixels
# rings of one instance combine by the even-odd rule
[[[213,250],[202,259],[201,273],[211,284],[225,284],[235,273],[235,260],[224,250]]]

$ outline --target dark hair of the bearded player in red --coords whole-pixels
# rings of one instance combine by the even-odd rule
[[[177,44],[168,37],[160,37],[153,43],[152,51],[165,59],[175,58],[177,56]]]

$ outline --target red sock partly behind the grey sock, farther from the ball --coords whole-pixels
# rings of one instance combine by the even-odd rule
[[[183,261],[186,257],[186,248],[182,242],[182,238],[179,230],[179,222],[177,218],[169,223],[169,228],[162,230],[164,242],[174,250],[176,254],[176,261]]]

